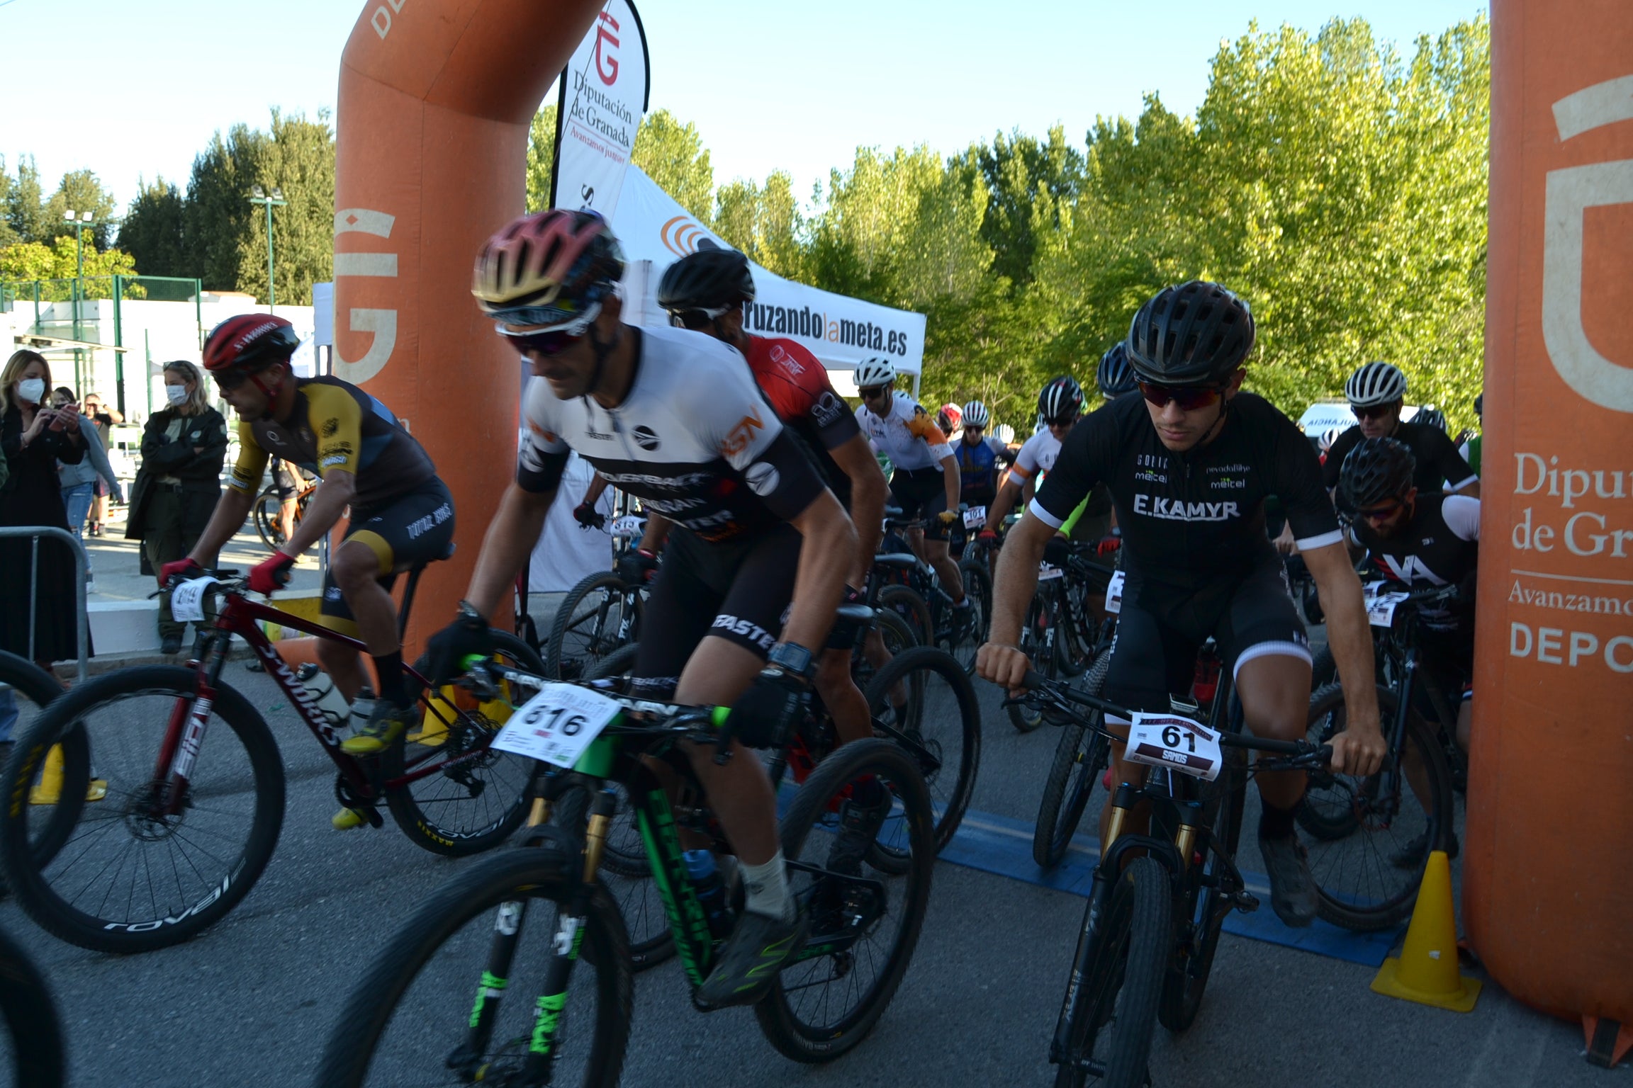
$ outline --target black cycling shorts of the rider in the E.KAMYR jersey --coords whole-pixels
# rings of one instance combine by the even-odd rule
[[[1280,559],[1259,563],[1223,599],[1207,608],[1166,608],[1159,617],[1140,602],[1141,584],[1128,574],[1106,698],[1130,710],[1164,713],[1169,695],[1187,698],[1197,651],[1210,636],[1231,675],[1254,657],[1287,654],[1310,661],[1310,639],[1293,607]]]

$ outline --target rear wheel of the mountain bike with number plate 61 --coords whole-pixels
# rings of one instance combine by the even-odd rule
[[[1235,909],[1235,902],[1226,899],[1220,887],[1220,878],[1226,871],[1223,858],[1235,858],[1236,845],[1241,842],[1241,814],[1248,801],[1246,768],[1246,752],[1226,749],[1225,768],[1218,780],[1223,783],[1223,794],[1215,796],[1205,807],[1213,829],[1212,848],[1202,860],[1202,873],[1194,884],[1195,896],[1190,899],[1190,920],[1179,951],[1169,959],[1163,997],[1156,1006],[1158,1021],[1169,1031],[1184,1031],[1195,1023],[1202,1008],[1202,992],[1213,972],[1213,954],[1220,946],[1225,915]]]

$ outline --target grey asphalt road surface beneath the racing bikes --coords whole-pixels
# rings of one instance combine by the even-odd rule
[[[263,675],[230,669],[266,713],[289,775],[283,838],[238,910],[188,944],[114,958],[62,944],[0,902],[0,927],[56,988],[73,1085],[309,1083],[395,918],[475,863],[423,853],[390,822],[330,830],[331,772],[322,752]],[[973,809],[1030,820],[1055,734],[1016,734],[991,688],[983,687],[983,705]],[[906,980],[849,1057],[802,1067],[766,1044],[748,1010],[692,1011],[671,961],[637,977],[624,1083],[1052,1083],[1047,1046],[1083,899],[949,863],[937,865],[934,881]],[[1496,985],[1473,1013],[1457,1015],[1378,997],[1367,988],[1372,974],[1226,935],[1195,1026],[1181,1037],[1158,1029],[1153,1080],[1195,1088],[1633,1085],[1626,1064],[1609,1072],[1586,1064],[1577,1024],[1540,1016]]]

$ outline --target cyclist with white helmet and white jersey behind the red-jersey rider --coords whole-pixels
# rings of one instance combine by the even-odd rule
[[[856,367],[856,388],[862,406],[856,422],[869,445],[890,458],[890,498],[901,507],[901,517],[923,517],[923,542],[914,532],[908,543],[919,558],[936,568],[941,587],[952,604],[967,613],[963,579],[959,564],[947,555],[947,530],[959,519],[959,458],[952,444],[911,396],[897,388],[897,367],[882,356],[864,359]]]

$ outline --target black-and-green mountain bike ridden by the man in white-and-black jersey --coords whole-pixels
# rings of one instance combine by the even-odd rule
[[[730,731],[719,728],[727,710],[630,700],[487,664],[469,675],[478,698],[501,680],[541,685],[501,744],[516,731],[519,747],[555,760],[539,763],[534,775],[529,830],[519,848],[465,869],[380,949],[330,1033],[318,1060],[320,1088],[617,1083],[634,980],[624,918],[599,879],[614,785],[634,806],[694,1006],[709,1011],[696,987],[740,907],[717,889],[704,886],[701,894],[683,860],[681,829],[717,855],[730,848],[678,745],[715,745],[717,760],[730,759]],[[665,762],[681,781],[674,803],[647,759]],[[911,858],[903,876],[826,868],[839,806],[867,776],[880,780],[905,812],[890,832]],[[583,835],[549,825],[555,798],[563,804],[591,798],[588,816],[565,820],[572,827],[581,819]],[[790,892],[808,925],[754,1016],[784,1055],[830,1062],[867,1037],[918,943],[934,860],[923,778],[887,741],[848,744],[795,793],[781,838]],[[527,990],[518,1002],[509,993],[521,987]],[[454,995],[465,1002],[456,1005]]]

